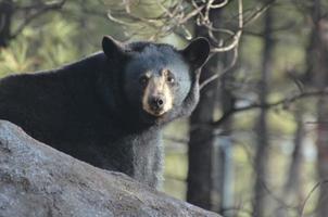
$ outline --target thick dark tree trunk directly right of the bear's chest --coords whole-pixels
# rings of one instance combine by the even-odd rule
[[[214,27],[218,23],[218,10],[211,10],[210,20]],[[195,35],[207,37],[203,27],[195,27]],[[209,60],[202,69],[200,82],[217,73],[218,55]],[[217,81],[205,86],[201,91],[200,102],[190,117],[190,141],[188,151],[188,189],[187,201],[200,207],[212,209],[213,190],[213,145],[215,138],[209,123],[213,122],[213,115],[217,99]]]

